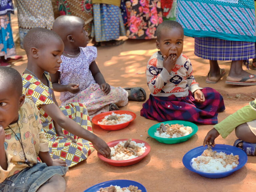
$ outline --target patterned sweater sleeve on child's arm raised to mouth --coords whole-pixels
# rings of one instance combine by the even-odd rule
[[[151,58],[147,63],[146,69],[148,88],[152,94],[160,92],[164,88],[165,83],[172,78],[165,67],[161,71],[161,69],[156,67],[156,64],[157,58]]]

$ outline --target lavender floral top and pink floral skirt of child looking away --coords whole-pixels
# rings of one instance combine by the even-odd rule
[[[83,103],[90,118],[98,113],[109,111],[108,105],[111,103],[115,103],[119,107],[128,103],[128,93],[123,88],[110,86],[110,92],[107,95],[100,89],[100,85],[96,83],[89,69],[96,57],[96,47],[80,47],[80,55],[77,57],[61,56],[62,63],[59,69],[61,85],[77,83],[80,88],[80,92],[77,94],[61,92],[61,105],[70,102]]]

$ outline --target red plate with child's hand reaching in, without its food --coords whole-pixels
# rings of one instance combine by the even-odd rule
[[[126,141],[128,139],[119,139],[119,140],[115,140],[115,141],[110,141],[108,142],[108,146],[109,147],[114,147],[115,145],[117,145],[120,141]],[[113,165],[113,166],[129,166],[129,165],[133,165],[135,163],[138,163],[139,161],[141,161],[144,157],[147,156],[147,154],[149,153],[150,151],[150,146],[148,143],[146,143],[145,141],[142,141],[142,140],[139,140],[139,139],[132,139],[132,141],[135,141],[136,143],[144,143],[145,144],[145,152],[136,157],[136,158],[133,158],[133,159],[128,159],[128,160],[123,160],[123,161],[117,161],[117,160],[112,160],[112,159],[108,159],[106,157],[104,157],[103,155],[101,155],[99,152],[97,153],[98,157],[102,160],[102,161],[105,161],[107,162],[108,164],[110,165]]]

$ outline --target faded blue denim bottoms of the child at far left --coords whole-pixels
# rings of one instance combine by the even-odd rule
[[[35,192],[55,174],[65,175],[68,167],[47,166],[45,163],[37,163],[32,168],[7,177],[0,183],[0,191],[3,192]],[[57,186],[56,186],[57,187]]]

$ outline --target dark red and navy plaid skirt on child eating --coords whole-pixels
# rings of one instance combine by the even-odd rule
[[[218,112],[224,111],[224,101],[220,93],[210,87],[201,90],[205,102],[197,103],[189,91],[187,97],[149,96],[143,104],[140,115],[159,122],[185,120],[201,124],[218,123]]]

